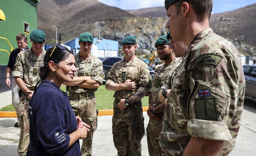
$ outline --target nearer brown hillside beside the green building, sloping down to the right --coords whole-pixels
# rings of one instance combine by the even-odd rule
[[[38,29],[47,39],[74,28],[80,23],[134,17],[125,10],[105,5],[97,0],[42,0],[38,6]]]

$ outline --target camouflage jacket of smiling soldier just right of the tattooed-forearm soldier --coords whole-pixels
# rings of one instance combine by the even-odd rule
[[[153,84],[150,89],[150,92],[152,92],[153,107],[156,107],[162,103],[161,101],[158,100],[158,93],[159,93],[160,87],[170,83],[171,73],[179,66],[180,62],[181,62],[180,58],[175,58],[167,66],[165,65],[165,63],[163,63],[155,69]]]

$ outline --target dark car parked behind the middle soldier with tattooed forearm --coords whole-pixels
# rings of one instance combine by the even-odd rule
[[[106,59],[104,59],[102,61],[102,63],[103,63],[103,71],[104,71],[104,74],[105,74],[105,79],[106,79],[106,77],[107,77],[107,75],[109,73],[109,70],[112,68],[113,64],[115,62],[118,62],[118,61],[122,60],[122,59],[123,58],[121,58],[121,57],[108,57],[108,58],[106,58]],[[151,77],[153,78],[155,71],[152,68],[150,68],[149,66],[148,66],[148,69],[149,69],[149,73],[150,73]]]

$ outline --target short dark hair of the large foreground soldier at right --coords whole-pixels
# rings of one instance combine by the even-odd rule
[[[212,9],[213,9],[213,0],[179,0],[174,3],[176,7],[177,14],[180,11],[182,3],[190,3],[195,11],[195,14],[200,21],[207,17],[210,20]]]

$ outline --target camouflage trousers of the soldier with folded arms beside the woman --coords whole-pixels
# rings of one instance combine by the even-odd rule
[[[75,115],[79,115],[82,121],[90,125],[90,131],[87,132],[87,137],[83,139],[81,147],[82,156],[90,156],[92,150],[93,132],[97,129],[97,110],[95,96],[91,95],[83,98],[70,98],[70,105]]]

